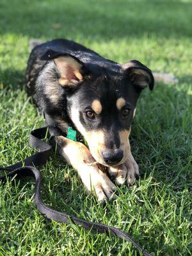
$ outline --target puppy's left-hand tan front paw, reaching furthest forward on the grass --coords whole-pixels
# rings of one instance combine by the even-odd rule
[[[114,197],[115,184],[97,166],[84,164],[78,172],[86,189],[96,195],[99,202],[104,202],[108,198]]]

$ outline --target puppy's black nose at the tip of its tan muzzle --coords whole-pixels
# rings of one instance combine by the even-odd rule
[[[121,149],[118,150],[105,150],[101,152],[102,158],[107,164],[117,164],[119,163],[123,156],[124,156],[124,151]]]

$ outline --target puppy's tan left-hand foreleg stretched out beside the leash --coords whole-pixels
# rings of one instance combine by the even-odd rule
[[[97,195],[99,202],[112,198],[116,187],[95,164],[88,148],[83,143],[63,136],[58,136],[55,140],[61,156],[77,170],[86,189]]]

